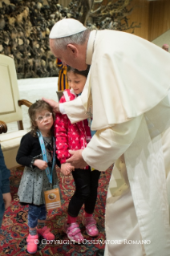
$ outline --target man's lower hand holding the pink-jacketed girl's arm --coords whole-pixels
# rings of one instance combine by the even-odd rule
[[[69,150],[69,153],[72,155],[70,158],[67,159],[67,163],[71,163],[72,166],[75,168],[83,169],[87,166],[87,163],[83,160],[82,156],[83,149],[81,150]]]

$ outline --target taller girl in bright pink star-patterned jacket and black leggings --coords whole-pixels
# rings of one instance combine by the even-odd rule
[[[67,67],[67,78],[70,90],[63,91],[63,97],[60,103],[75,100],[81,94],[86,83],[88,69],[86,71],[78,71],[71,67]],[[91,129],[88,121],[83,120],[75,124],[71,124],[67,115],[56,114],[55,120],[55,136],[56,136],[56,153],[61,162],[61,172],[68,175],[71,172],[71,164],[66,163],[67,158],[71,157],[68,152],[86,148],[87,143],[91,140]],[[97,198],[97,188],[100,172],[91,171],[90,166],[85,169],[75,169],[72,171],[75,180],[75,193],[71,197],[68,205],[67,220],[64,224],[64,231],[67,237],[77,243],[83,242],[83,235],[76,222],[80,209],[84,204],[83,225],[86,227],[87,234],[95,237],[99,234],[96,221],[93,217],[95,202]]]

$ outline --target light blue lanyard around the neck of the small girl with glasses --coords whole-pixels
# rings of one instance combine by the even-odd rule
[[[43,161],[47,161],[47,153],[46,153],[46,147],[45,147],[45,144],[44,144],[44,141],[43,141],[43,137],[42,137],[42,133],[40,131],[37,132],[38,134],[38,139],[39,139],[39,143],[40,143],[40,146],[41,146],[41,149],[42,149],[42,159]],[[46,174],[47,174],[47,177],[48,177],[48,181],[51,183],[52,185],[52,172],[53,172],[53,169],[55,167],[55,138],[53,137],[53,144],[54,144],[54,152],[53,152],[53,164],[52,164],[52,169],[50,171],[50,168],[47,166],[47,169],[46,169]]]

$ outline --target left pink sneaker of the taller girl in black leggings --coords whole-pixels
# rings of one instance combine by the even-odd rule
[[[81,230],[79,229],[79,225],[77,222],[67,224],[67,221],[64,223],[63,231],[67,234],[67,237],[75,242],[81,243],[83,242],[83,235],[81,234]]]

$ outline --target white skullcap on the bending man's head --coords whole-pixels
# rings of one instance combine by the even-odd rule
[[[49,38],[60,39],[70,35],[75,35],[86,29],[86,26],[83,26],[81,22],[74,18],[63,18],[59,22],[56,22],[52,27]]]

